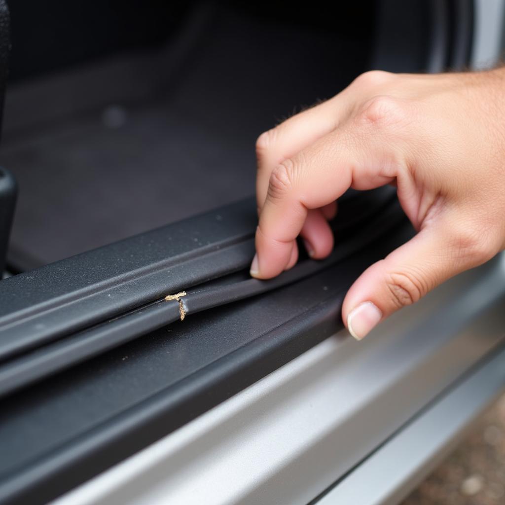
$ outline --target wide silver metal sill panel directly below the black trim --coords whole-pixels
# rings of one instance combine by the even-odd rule
[[[307,503],[500,343],[504,308],[501,255],[362,342],[322,342],[56,503]]]

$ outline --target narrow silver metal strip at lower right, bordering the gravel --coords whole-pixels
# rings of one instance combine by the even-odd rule
[[[402,428],[317,505],[399,503],[442,461],[504,387],[505,350],[501,350]]]

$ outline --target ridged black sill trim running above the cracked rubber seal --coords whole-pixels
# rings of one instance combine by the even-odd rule
[[[387,189],[339,200],[337,240],[387,205]],[[2,281],[0,363],[248,268],[257,219],[250,198]]]

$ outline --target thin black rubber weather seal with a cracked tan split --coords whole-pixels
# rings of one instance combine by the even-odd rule
[[[272,291],[320,272],[362,250],[402,219],[404,217],[396,198],[389,199],[381,212],[363,223],[355,233],[348,234],[325,260],[306,259],[291,270],[267,281],[249,278],[230,284],[186,288],[187,292],[167,293],[167,298],[53,343],[42,345],[0,365],[0,396],[191,314]]]

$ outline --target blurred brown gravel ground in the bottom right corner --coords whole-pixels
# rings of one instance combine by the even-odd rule
[[[505,504],[505,394],[401,505]]]

